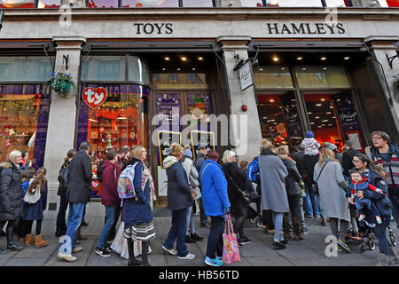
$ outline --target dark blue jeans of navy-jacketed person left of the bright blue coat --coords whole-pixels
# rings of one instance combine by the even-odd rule
[[[165,248],[171,249],[176,241],[177,256],[189,254],[185,246],[185,229],[187,226],[187,209],[172,209],[172,227],[169,230],[168,238],[163,243]]]

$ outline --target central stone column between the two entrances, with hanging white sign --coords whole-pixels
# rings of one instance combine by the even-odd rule
[[[260,153],[262,142],[262,131],[259,122],[258,109],[256,106],[256,98],[254,86],[241,91],[241,83],[239,80],[239,71],[233,71],[237,65],[236,54],[242,59],[248,58],[247,43],[251,41],[249,36],[219,36],[217,42],[222,45],[223,61],[225,62],[227,91],[231,103],[231,114],[246,115],[246,130],[234,130],[234,122],[230,123],[230,131],[235,139],[235,145],[238,144],[245,149],[244,153],[238,153],[240,160],[252,161],[254,156]],[[243,111],[241,106],[245,104],[247,111]],[[238,122],[240,124],[240,122]],[[246,146],[244,144],[246,144]],[[239,151],[242,152],[242,151]],[[250,162],[249,161],[249,162]]]

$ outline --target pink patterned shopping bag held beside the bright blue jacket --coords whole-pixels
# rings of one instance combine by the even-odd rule
[[[239,256],[239,242],[237,241],[237,236],[233,230],[230,214],[226,214],[224,222],[223,263],[238,263],[241,261],[241,257]]]

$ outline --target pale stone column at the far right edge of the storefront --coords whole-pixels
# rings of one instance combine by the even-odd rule
[[[382,72],[379,75],[379,80],[382,88],[384,89],[384,95],[389,99],[387,85],[391,92],[391,97],[393,100],[393,106],[389,105],[392,116],[394,117],[396,130],[399,130],[399,101],[395,99],[394,87],[392,84],[392,77],[399,74],[399,59],[393,60],[392,68],[389,66],[387,57],[392,57],[397,55],[395,43],[399,41],[399,36],[370,36],[364,40],[364,43],[369,43],[370,49],[375,57],[381,63],[385,76],[387,77],[387,83],[385,78],[383,78]],[[394,134],[391,134],[394,135]]]

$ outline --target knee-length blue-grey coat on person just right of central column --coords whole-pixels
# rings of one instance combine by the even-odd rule
[[[262,209],[278,213],[289,212],[285,180],[286,166],[276,155],[263,150],[258,159],[261,175]]]

